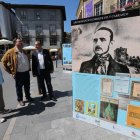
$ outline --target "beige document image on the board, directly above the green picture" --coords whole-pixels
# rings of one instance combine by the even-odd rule
[[[112,79],[103,78],[102,79],[102,92],[104,96],[112,96]]]

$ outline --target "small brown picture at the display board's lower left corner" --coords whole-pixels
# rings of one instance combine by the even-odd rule
[[[84,101],[83,100],[75,100],[75,112],[80,112],[84,114]]]

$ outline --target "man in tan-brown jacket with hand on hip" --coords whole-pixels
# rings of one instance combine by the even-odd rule
[[[15,79],[17,100],[21,106],[24,106],[22,87],[24,86],[27,101],[31,102],[30,97],[30,62],[27,54],[22,50],[23,42],[20,38],[13,41],[14,47],[9,49],[2,58],[4,69]]]

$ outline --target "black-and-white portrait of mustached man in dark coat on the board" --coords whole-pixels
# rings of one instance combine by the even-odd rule
[[[93,38],[95,55],[91,60],[81,64],[81,73],[115,75],[115,73],[129,73],[127,66],[116,62],[109,54],[110,44],[113,43],[113,32],[107,27],[96,30]]]

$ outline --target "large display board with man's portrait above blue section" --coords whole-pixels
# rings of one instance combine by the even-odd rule
[[[73,117],[140,139],[140,11],[72,21]]]

